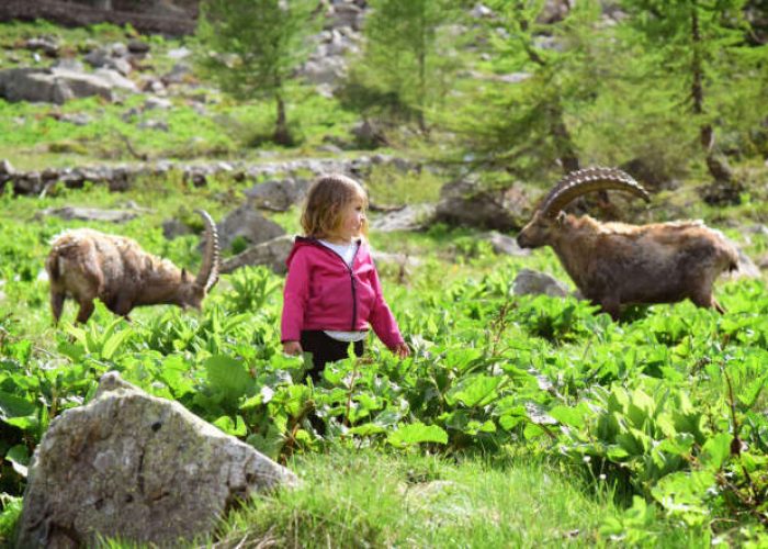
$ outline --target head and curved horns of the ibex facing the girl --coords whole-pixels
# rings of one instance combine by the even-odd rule
[[[572,171],[555,184],[518,235],[521,248],[538,248],[552,243],[565,220],[563,208],[588,192],[607,189],[630,192],[645,201],[648,193],[629,173],[613,168],[586,168]]]

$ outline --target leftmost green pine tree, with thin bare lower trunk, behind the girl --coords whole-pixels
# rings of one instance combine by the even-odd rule
[[[196,36],[204,74],[237,99],[275,102],[274,142],[290,145],[285,85],[308,54],[313,0],[203,0]]]

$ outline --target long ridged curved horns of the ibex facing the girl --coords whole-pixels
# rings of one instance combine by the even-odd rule
[[[561,179],[539,210],[544,215],[554,217],[566,204],[578,197],[603,189],[630,192],[646,202],[651,200],[647,191],[625,171],[615,168],[585,168],[572,171]]]

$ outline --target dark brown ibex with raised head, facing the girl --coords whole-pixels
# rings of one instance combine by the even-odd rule
[[[573,171],[544,198],[520,231],[518,244],[551,246],[581,294],[613,318],[625,304],[674,303],[686,298],[724,313],[712,295],[712,284],[738,262],[738,253],[725,237],[701,221],[629,225],[562,211],[576,198],[606,189],[650,200],[645,189],[621,170]]]

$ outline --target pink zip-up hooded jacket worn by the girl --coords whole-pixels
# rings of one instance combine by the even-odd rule
[[[354,332],[368,329],[369,323],[389,349],[403,343],[365,242],[350,269],[334,250],[297,236],[286,265],[283,343],[298,341],[303,329]]]

